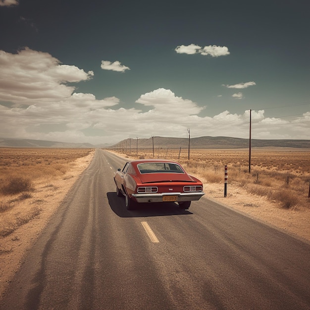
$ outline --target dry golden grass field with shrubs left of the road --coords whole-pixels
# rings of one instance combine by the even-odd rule
[[[39,184],[55,191],[52,180],[72,178],[77,158],[91,149],[0,149],[0,237],[40,215],[41,207],[24,207]],[[67,174],[68,173],[68,174]],[[40,202],[34,202],[38,205]]]

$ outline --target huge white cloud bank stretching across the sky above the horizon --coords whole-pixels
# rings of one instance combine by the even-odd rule
[[[92,77],[49,53],[0,51],[0,137],[114,144],[152,135],[186,138],[188,128],[193,138],[249,136],[249,111],[202,117],[203,107],[165,88],[142,94],[137,108],[124,108],[116,97],[98,100],[66,85]],[[255,139],[309,139],[310,112],[289,121],[252,110],[252,119]]]

